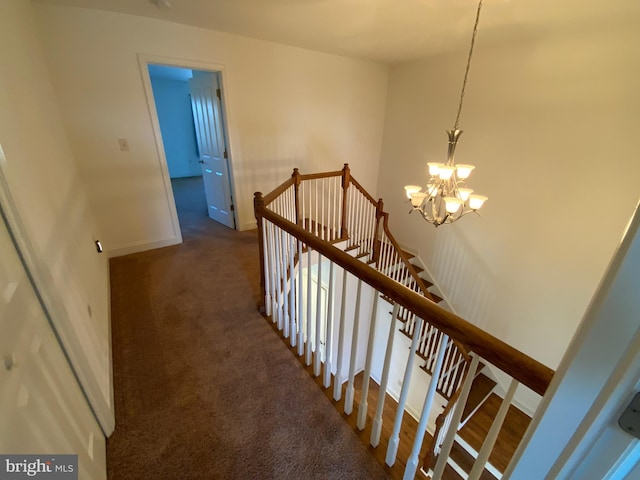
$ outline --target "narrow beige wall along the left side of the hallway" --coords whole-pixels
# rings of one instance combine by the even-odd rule
[[[4,177],[7,187],[0,186],[3,208],[64,347],[109,431],[107,260],[96,252],[94,241],[101,237],[62,127],[28,0],[0,2],[0,144],[0,181]]]

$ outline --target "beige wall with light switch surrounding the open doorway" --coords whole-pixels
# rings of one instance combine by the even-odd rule
[[[162,165],[137,54],[225,68],[239,227],[251,228],[254,191],[348,162],[375,193],[388,69],[142,17],[36,5],[65,125],[107,247],[171,243]],[[130,152],[118,150],[128,138]]]

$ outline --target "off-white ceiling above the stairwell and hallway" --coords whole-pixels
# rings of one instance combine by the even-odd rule
[[[477,0],[34,0],[141,15],[384,63],[465,47]],[[638,12],[638,0],[485,0],[478,42]],[[582,23],[582,22],[579,22]]]

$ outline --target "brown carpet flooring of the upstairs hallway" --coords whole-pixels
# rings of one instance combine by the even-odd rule
[[[111,261],[109,479],[387,478],[258,313],[256,232],[173,183],[184,243]]]

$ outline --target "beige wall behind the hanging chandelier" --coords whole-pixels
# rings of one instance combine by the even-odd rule
[[[456,156],[477,166],[482,218],[436,230],[403,203],[445,159],[466,52],[390,72],[378,192],[393,232],[460,315],[552,368],[640,197],[640,30],[615,10],[499,44],[480,29]]]

